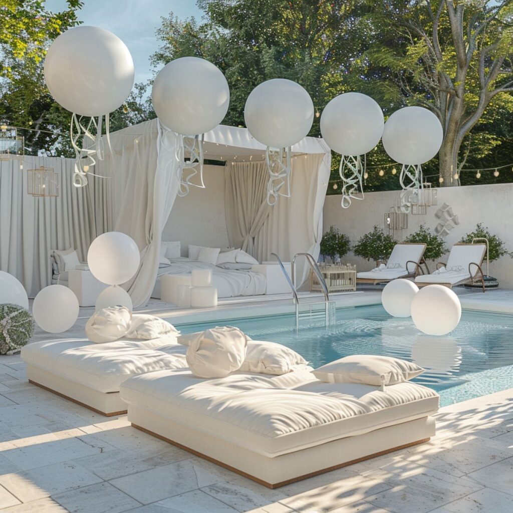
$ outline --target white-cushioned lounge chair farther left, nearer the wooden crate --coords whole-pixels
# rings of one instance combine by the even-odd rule
[[[393,247],[386,262],[378,262],[378,267],[371,271],[357,273],[356,282],[376,285],[397,278],[415,278],[419,272],[424,274],[422,265],[429,272],[424,260],[425,250],[425,244],[400,242]]]

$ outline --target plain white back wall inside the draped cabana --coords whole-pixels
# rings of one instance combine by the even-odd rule
[[[228,247],[224,170],[224,166],[205,166],[206,188],[191,187],[186,196],[174,202],[162,240],[180,241],[183,257],[187,257],[189,244]]]

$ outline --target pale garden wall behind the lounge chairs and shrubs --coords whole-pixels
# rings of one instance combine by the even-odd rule
[[[342,196],[327,196],[324,204],[324,231],[334,225],[347,234],[354,243],[364,233],[371,231],[374,225],[384,228],[384,214],[394,205],[394,201],[399,202],[399,193],[400,191],[365,193],[364,200],[353,200],[347,209],[340,206]],[[513,184],[439,188],[438,205],[429,207],[426,215],[409,214],[408,228],[396,231],[396,239],[403,240],[423,223],[433,230],[438,224],[435,212],[443,203],[452,207],[460,221],[460,224],[446,236],[447,247],[450,248],[481,222],[491,233],[498,235],[505,242],[508,250],[513,251]],[[444,255],[440,261],[444,262],[446,259],[447,255]],[[358,270],[369,270],[374,267],[373,262],[355,257],[352,253],[342,260],[356,264]],[[429,269],[434,270],[432,263],[429,263]],[[483,271],[486,272],[486,268],[483,268]],[[499,279],[500,287],[513,288],[513,259],[502,257],[492,262],[490,274]]]

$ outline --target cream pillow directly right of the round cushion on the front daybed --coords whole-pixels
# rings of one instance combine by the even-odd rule
[[[308,362],[292,349],[275,342],[249,341],[246,358],[239,370],[281,376]]]

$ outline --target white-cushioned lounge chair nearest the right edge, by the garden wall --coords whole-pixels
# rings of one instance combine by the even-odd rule
[[[415,278],[418,287],[445,285],[452,288],[470,281],[481,282],[485,292],[484,275],[481,265],[486,254],[486,244],[457,243],[452,246],[447,264],[439,262],[437,270]]]

